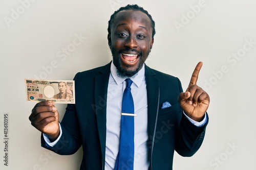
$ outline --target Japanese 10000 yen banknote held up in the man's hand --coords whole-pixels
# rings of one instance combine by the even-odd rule
[[[75,104],[75,81],[25,79],[27,101]]]

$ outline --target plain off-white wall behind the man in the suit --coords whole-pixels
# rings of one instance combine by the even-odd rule
[[[0,168],[79,169],[81,150],[60,156],[40,147],[28,119],[36,103],[26,101],[24,79],[72,80],[109,63],[108,21],[127,4],[142,6],[156,22],[148,66],[178,77],[186,89],[196,64],[204,63],[198,85],[210,95],[206,136],[193,157],[175,153],[174,169],[256,169],[254,0],[1,0],[0,137],[8,113],[9,162],[0,142]],[[66,105],[56,106],[62,118]]]

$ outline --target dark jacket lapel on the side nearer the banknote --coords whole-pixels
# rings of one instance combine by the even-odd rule
[[[105,65],[99,72],[100,75],[95,77],[95,110],[97,118],[97,127],[101,147],[102,166],[105,164],[105,147],[106,147],[106,96],[108,94],[108,84],[110,77],[110,65]]]

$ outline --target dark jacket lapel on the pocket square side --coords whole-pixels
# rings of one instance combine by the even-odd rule
[[[145,65],[145,79],[147,90],[147,129],[148,147],[152,149],[153,136],[158,110],[159,79],[155,78],[155,72]]]

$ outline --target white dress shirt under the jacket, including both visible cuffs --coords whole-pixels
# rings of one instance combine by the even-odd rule
[[[122,96],[126,87],[125,78],[117,76],[117,68],[111,63],[111,74],[109,78],[108,96],[106,105],[106,149],[105,149],[105,170],[113,170],[119,150],[120,123]],[[134,169],[148,170],[150,165],[147,159],[147,93],[145,82],[144,65],[138,74],[131,78],[131,93],[134,100],[134,111],[137,116],[134,117]],[[186,116],[191,123],[196,126],[202,126],[206,122],[206,116],[201,122]],[[61,136],[60,128],[60,136]],[[60,137],[59,136],[59,137]],[[45,141],[51,147],[59,140],[50,142],[47,135],[44,134]]]

